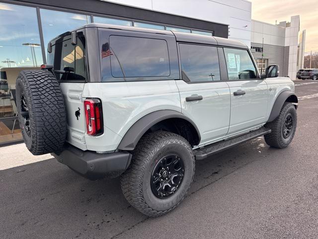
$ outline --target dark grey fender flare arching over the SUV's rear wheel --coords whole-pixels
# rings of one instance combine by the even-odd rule
[[[191,119],[189,119],[188,117],[186,117],[185,115],[177,111],[160,110],[160,111],[155,111],[153,113],[150,113],[142,117],[141,119],[138,119],[130,127],[130,129],[128,129],[128,131],[125,133],[117,149],[127,150],[127,151],[133,150],[136,147],[139,139],[147,132],[148,129],[150,129],[153,125],[155,125],[156,123],[164,119],[172,119],[172,118],[180,118],[180,119],[185,119],[189,121],[196,129],[199,136],[199,142],[200,142],[201,137],[200,137],[199,129]]]

